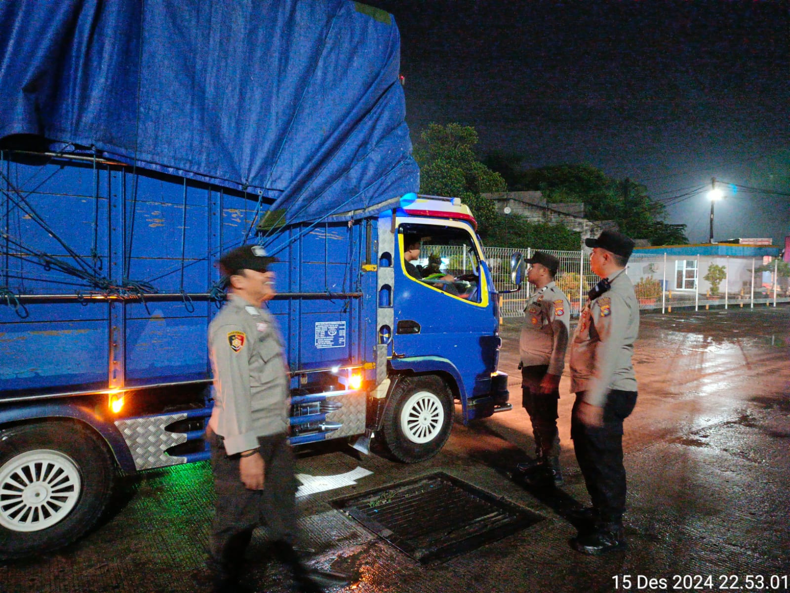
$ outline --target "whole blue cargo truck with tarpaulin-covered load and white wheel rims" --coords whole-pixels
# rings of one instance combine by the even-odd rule
[[[464,422],[510,409],[472,213],[415,193],[392,17],[273,5],[0,7],[13,32],[0,60],[0,557],[84,534],[118,472],[208,459],[215,263],[239,244],[280,259],[269,308],[292,444],[377,436],[413,463],[442,448],[455,402]],[[424,278],[407,271],[405,236],[419,237]]]

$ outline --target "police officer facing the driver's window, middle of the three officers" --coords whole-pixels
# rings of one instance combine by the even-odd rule
[[[530,479],[562,485],[559,466],[557,400],[559,380],[565,368],[565,350],[570,334],[568,297],[554,283],[559,259],[536,251],[530,259],[527,280],[536,292],[524,308],[519,350],[521,390],[524,407],[532,422],[536,459],[519,463],[517,470]]]

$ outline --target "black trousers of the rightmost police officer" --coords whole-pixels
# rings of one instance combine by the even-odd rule
[[[591,427],[577,417],[584,391],[576,394],[570,437],[587,492],[603,523],[622,523],[626,510],[626,468],[623,466],[623,420],[634,411],[636,391],[613,389],[604,405],[604,425]]]

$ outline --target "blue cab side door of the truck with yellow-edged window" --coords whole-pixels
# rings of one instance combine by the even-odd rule
[[[460,221],[401,222],[395,240],[393,357],[422,358],[424,368],[447,361],[462,383],[464,421],[491,415],[474,405],[491,393],[499,344],[476,236]]]

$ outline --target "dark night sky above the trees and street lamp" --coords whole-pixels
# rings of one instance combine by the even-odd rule
[[[464,123],[480,157],[629,177],[692,243],[716,177],[741,187],[723,187],[716,240],[790,235],[790,2],[370,3],[401,31],[413,139]]]

